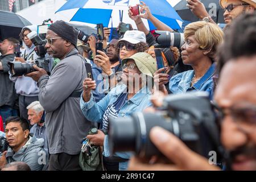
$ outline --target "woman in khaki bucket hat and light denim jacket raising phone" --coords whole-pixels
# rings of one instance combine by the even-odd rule
[[[84,92],[80,100],[82,113],[89,121],[101,123],[102,129],[108,130],[109,117],[126,117],[135,111],[142,111],[151,106],[152,80],[156,71],[154,58],[145,52],[135,53],[133,56],[122,60],[122,67],[122,84],[115,86],[97,103],[91,94],[91,90],[96,88],[95,82],[90,78],[85,78],[83,82]],[[124,162],[108,161],[106,163],[106,157],[110,155],[108,134],[98,130],[98,134],[88,135],[87,138],[93,144],[104,146],[104,164],[107,170],[127,169],[130,152],[116,152],[114,154],[119,159],[123,159],[120,161]]]

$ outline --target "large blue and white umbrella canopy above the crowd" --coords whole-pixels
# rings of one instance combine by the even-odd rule
[[[182,19],[174,8],[166,0],[145,0],[151,13],[171,28],[179,30]],[[103,23],[105,27],[117,27],[119,22],[130,23],[135,26],[133,20],[128,16],[128,6],[139,4],[139,0],[69,0],[56,13],[61,11],[73,13],[71,21],[86,23]],[[149,30],[154,30],[153,24],[143,19]]]

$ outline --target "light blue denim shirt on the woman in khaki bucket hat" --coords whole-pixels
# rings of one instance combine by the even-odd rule
[[[115,86],[110,92],[102,98],[99,102],[95,102],[94,97],[90,96],[88,102],[84,102],[81,94],[80,98],[80,107],[85,118],[92,122],[102,122],[102,116],[105,113],[105,110],[110,104],[113,104],[121,93],[127,92],[127,86],[121,84]],[[146,107],[151,106],[150,101],[151,92],[148,88],[143,87],[139,92],[137,92],[130,100],[126,100],[125,104],[122,106],[118,113],[118,117],[127,117],[132,113],[143,111]],[[108,157],[109,154],[109,144],[108,144],[108,135],[105,135],[104,139],[104,151],[103,155]],[[115,155],[123,158],[129,159],[132,155],[131,152],[116,152]],[[128,162],[119,163],[119,170],[127,169]]]

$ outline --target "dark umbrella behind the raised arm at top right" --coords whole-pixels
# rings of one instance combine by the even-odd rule
[[[212,16],[214,22],[225,23],[223,18],[224,11],[220,7],[218,0],[201,0],[201,2],[204,4],[209,14],[216,12],[216,14]],[[191,12],[190,9],[188,9],[187,1],[185,0],[181,0],[179,3],[177,3],[177,5],[174,6],[174,9],[177,11],[177,14],[179,14],[183,20],[187,20],[189,22],[196,22],[200,20]]]

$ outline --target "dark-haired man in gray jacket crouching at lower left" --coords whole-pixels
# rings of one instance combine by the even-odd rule
[[[43,148],[44,142],[29,135],[26,120],[19,117],[7,118],[5,133],[9,147],[0,158],[0,168],[16,161],[26,163],[32,171],[46,169],[48,154]]]

